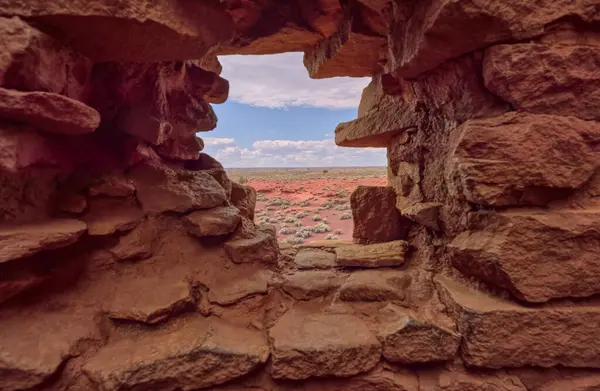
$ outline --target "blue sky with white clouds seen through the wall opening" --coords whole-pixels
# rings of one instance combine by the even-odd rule
[[[385,149],[341,148],[339,122],[356,118],[369,79],[312,80],[302,53],[224,56],[229,99],[213,105],[219,122],[199,133],[204,152],[225,167],[384,166]]]

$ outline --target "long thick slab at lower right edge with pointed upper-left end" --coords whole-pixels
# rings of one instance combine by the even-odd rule
[[[524,307],[446,277],[435,282],[462,335],[467,365],[600,368],[600,306]]]

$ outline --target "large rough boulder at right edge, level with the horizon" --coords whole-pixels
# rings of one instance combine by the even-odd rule
[[[562,195],[556,190],[582,186],[598,167],[600,125],[574,117],[513,112],[467,121],[453,137],[450,191],[477,204],[543,205]]]

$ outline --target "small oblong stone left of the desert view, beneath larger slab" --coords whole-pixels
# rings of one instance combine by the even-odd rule
[[[185,216],[188,230],[193,235],[220,236],[232,233],[241,221],[240,211],[234,206],[219,206],[198,210]]]

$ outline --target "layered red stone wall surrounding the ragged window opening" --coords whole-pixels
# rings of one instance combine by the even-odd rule
[[[600,388],[600,4],[0,0],[0,390]],[[201,152],[224,54],[371,76],[350,243]]]

